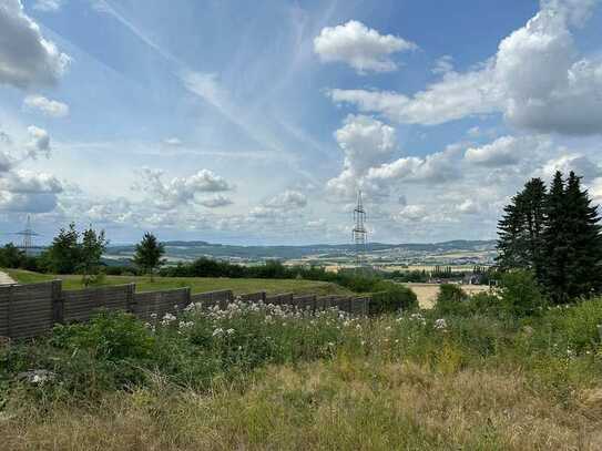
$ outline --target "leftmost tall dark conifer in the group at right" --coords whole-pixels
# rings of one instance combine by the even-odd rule
[[[504,207],[498,224],[497,262],[502,270],[531,269],[538,279],[542,278],[544,202],[545,184],[541,178],[532,178]]]

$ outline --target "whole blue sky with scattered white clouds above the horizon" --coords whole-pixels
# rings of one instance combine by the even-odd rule
[[[491,239],[602,202],[599,0],[0,0],[0,242]]]

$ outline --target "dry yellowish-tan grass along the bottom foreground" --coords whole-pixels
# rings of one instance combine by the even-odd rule
[[[565,410],[520,373],[350,360],[274,367],[211,393],[156,387],[94,409],[27,407],[7,450],[600,450],[601,391]]]

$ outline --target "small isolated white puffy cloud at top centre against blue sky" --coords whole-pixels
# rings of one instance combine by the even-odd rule
[[[359,74],[395,71],[397,63],[391,54],[417,48],[414,42],[392,34],[382,35],[356,20],[326,27],[314,39],[314,51],[320,61],[347,63]]]

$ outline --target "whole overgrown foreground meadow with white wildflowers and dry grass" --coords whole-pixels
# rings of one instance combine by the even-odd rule
[[[0,348],[0,434],[10,450],[599,450],[600,324],[602,299],[528,318],[103,314]]]

